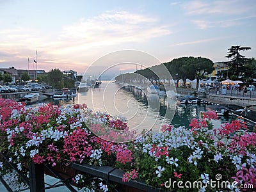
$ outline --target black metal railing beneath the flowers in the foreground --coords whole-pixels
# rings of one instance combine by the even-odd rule
[[[65,179],[61,176],[61,173],[54,170],[54,167],[49,166],[47,164],[35,164],[31,163],[28,168],[28,175],[24,175],[22,172],[17,170],[17,168],[11,164],[4,154],[0,154],[1,159],[6,161],[10,168],[13,168],[17,174],[24,180],[24,182],[29,186],[26,189],[20,189],[15,191],[24,191],[30,189],[31,192],[42,192],[46,189],[58,188],[60,186],[65,186],[69,191],[76,192],[77,190],[72,186],[71,175],[69,179]],[[72,163],[68,166],[72,170],[75,170],[79,173],[86,173],[89,175],[93,175],[93,177],[99,177],[105,180],[109,184],[117,184],[125,187],[130,187],[133,189],[140,189],[140,191],[161,191],[161,189],[154,188],[153,186],[149,186],[145,183],[145,180],[130,180],[129,182],[123,182],[122,178],[124,175],[124,171],[118,168],[113,168],[111,166],[91,166],[88,164],[77,164]],[[54,184],[45,183],[45,174],[51,175],[55,177],[59,181]],[[13,192],[12,188],[8,186],[8,184],[4,181],[2,175],[0,175],[0,181],[4,185],[7,191]],[[118,189],[116,189],[118,191]],[[121,191],[123,191],[121,189]]]

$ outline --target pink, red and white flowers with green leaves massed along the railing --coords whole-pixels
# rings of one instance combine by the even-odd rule
[[[213,129],[211,119],[217,118],[213,112],[191,120],[191,129],[164,125],[162,132],[148,132],[127,143],[95,136],[93,132],[106,125],[127,131],[127,123],[106,113],[93,113],[86,105],[30,108],[0,99],[0,115],[0,152],[21,171],[32,161],[51,166],[79,163],[120,168],[126,172],[123,182],[143,179],[163,190],[253,191],[256,187],[255,132],[244,131],[245,126],[237,121]],[[84,190],[115,188],[88,174],[72,177]]]

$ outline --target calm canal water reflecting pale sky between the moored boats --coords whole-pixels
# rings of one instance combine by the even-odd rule
[[[200,112],[206,111],[205,104],[178,105],[175,99],[149,94],[146,90],[102,81],[99,88],[90,88],[88,92],[77,93],[73,99],[45,99],[42,102],[53,104],[87,104],[93,111],[107,112],[112,116],[122,116],[127,119],[129,129],[159,130],[163,124],[175,127],[185,126],[189,129],[192,118],[200,118]],[[33,104],[36,106],[37,104]],[[228,122],[227,118],[214,120],[214,127]]]

